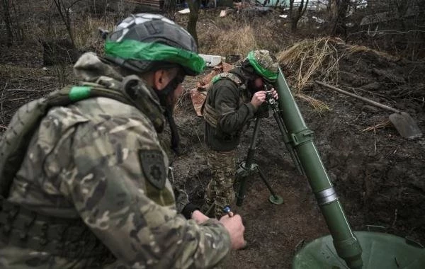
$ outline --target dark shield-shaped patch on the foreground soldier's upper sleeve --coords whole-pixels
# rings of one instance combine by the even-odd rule
[[[142,171],[149,183],[158,190],[165,185],[166,171],[162,151],[156,149],[139,150],[139,161]]]

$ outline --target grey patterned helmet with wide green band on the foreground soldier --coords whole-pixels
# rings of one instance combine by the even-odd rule
[[[164,16],[138,13],[115,26],[105,42],[106,59],[136,72],[179,65],[189,76],[205,67],[195,40]]]

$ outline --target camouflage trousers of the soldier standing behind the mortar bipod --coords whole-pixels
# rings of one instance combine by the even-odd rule
[[[226,205],[232,205],[235,200],[234,180],[236,177],[237,150],[214,151],[207,153],[208,167],[212,178],[205,190],[205,205],[203,212],[210,207],[209,217],[220,218]]]

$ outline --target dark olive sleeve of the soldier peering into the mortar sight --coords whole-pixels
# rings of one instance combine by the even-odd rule
[[[237,132],[254,118],[256,109],[251,103],[239,104],[237,87],[228,86],[225,81],[217,81],[217,87],[220,88],[215,98],[215,109],[220,115],[220,128],[227,133]]]

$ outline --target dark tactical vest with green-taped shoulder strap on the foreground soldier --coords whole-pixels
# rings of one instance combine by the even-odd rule
[[[136,80],[136,81],[135,81]],[[136,82],[136,83],[135,83]],[[113,254],[97,239],[84,222],[53,217],[28,210],[6,200],[16,173],[26,156],[31,137],[50,108],[67,106],[89,98],[112,98],[140,108],[143,96],[133,96],[137,77],[123,80],[120,90],[101,85],[67,86],[19,108],[0,140],[0,241],[11,246],[47,251],[53,256],[72,259],[99,258],[113,261]],[[134,101],[133,101],[133,100]],[[145,101],[146,102],[146,101]],[[99,268],[99,266],[94,266]]]

